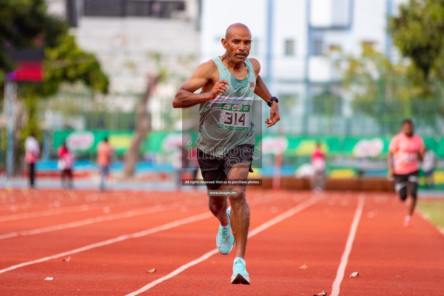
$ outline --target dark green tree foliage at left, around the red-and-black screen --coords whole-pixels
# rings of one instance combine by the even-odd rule
[[[4,73],[16,67],[8,57],[9,51],[41,46],[44,46],[43,82],[19,83],[18,94],[24,99],[28,114],[28,125],[18,136],[21,139],[32,132],[42,134],[36,101],[56,94],[61,83],[82,81],[95,91],[108,91],[107,75],[95,55],[75,43],[64,20],[47,13],[45,0],[0,0],[0,84]],[[15,149],[21,146],[18,144]]]

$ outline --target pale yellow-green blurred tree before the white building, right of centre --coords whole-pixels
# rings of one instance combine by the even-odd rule
[[[409,79],[410,65],[405,60],[392,63],[372,43],[361,43],[360,56],[337,59],[343,70],[342,85],[353,96],[352,108],[382,122],[394,119],[425,118],[442,114],[435,97],[424,97],[423,87]],[[397,123],[396,123],[397,124]]]

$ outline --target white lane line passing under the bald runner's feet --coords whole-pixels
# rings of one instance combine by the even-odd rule
[[[293,216],[295,213],[300,212],[303,209],[308,208],[310,205],[314,205],[317,201],[321,200],[323,197],[311,197],[309,200],[306,200],[302,203],[300,203],[299,205],[295,206],[292,209],[289,209],[288,211],[286,211],[285,213],[281,213],[279,216],[274,217],[273,219],[271,219],[270,221],[265,222],[264,224],[256,227],[255,229],[251,230],[250,233],[248,233],[248,237],[252,237],[258,233],[260,233],[261,231],[269,228],[270,226],[275,225],[276,223]],[[174,270],[173,272],[170,272],[169,274],[167,274],[166,276],[161,277],[158,280],[155,280],[149,284],[147,284],[146,286],[143,286],[142,288],[140,288],[139,290],[129,293],[126,296],[135,296],[137,294],[140,294],[142,292],[147,291],[149,288],[154,287],[156,284],[162,283],[164,280],[168,280],[169,278],[178,275],[180,272],[184,271],[185,269],[196,265],[208,258],[210,258],[211,256],[213,256],[214,254],[218,253],[218,249],[213,249],[210,252],[207,252],[205,254],[203,254],[201,257],[199,257],[196,260],[190,261],[187,264],[182,265],[181,267],[177,268],[176,270]]]

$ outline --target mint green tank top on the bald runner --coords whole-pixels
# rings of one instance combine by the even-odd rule
[[[216,99],[200,103],[196,144],[206,154],[220,158],[235,146],[254,145],[256,131],[251,115],[256,78],[249,59],[245,60],[248,74],[244,79],[235,78],[219,57],[212,60],[218,67],[219,81],[225,79],[230,85]]]

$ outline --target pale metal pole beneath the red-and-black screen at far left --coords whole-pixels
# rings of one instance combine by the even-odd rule
[[[14,172],[14,102],[17,97],[15,82],[5,79],[4,98],[6,99],[6,127],[8,130],[8,150],[6,151],[6,173],[11,177]]]

